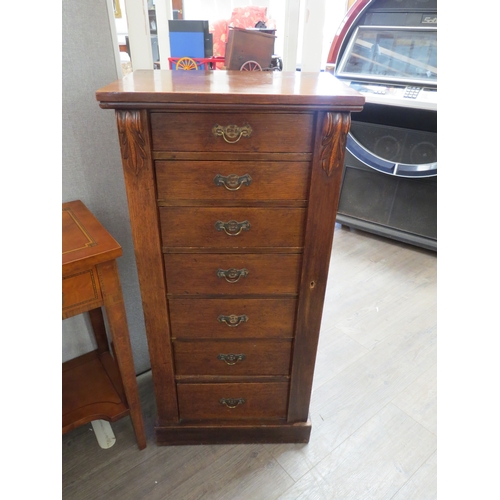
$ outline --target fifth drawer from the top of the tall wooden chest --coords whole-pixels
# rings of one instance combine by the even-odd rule
[[[173,338],[291,338],[296,299],[170,299]]]

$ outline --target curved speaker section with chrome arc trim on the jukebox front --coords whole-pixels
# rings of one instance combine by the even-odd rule
[[[353,120],[346,147],[359,161],[384,174],[437,175],[435,132]]]

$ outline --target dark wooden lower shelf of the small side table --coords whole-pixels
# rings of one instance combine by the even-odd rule
[[[95,350],[63,363],[63,434],[92,420],[115,422],[129,414],[120,372],[110,352]]]

